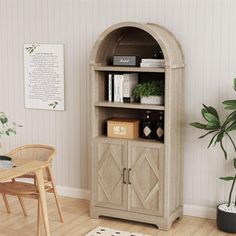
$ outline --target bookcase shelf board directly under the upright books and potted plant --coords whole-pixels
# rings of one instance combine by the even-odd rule
[[[122,103],[122,102],[96,102],[94,103],[96,107],[115,107],[115,108],[129,108],[129,109],[142,109],[142,110],[160,110],[164,111],[165,107],[160,105],[149,105],[140,103]]]

